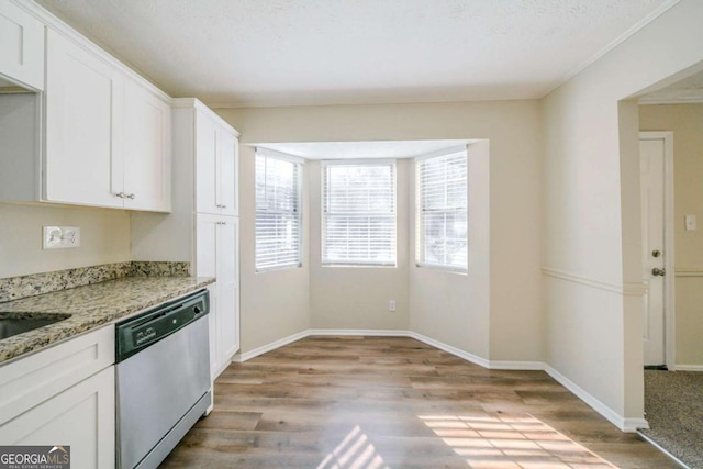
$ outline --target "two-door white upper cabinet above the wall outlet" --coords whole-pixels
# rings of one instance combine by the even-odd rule
[[[47,31],[49,202],[170,211],[170,105],[59,32]]]

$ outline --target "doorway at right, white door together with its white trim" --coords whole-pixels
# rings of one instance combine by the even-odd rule
[[[674,367],[673,136],[639,134],[645,367]]]

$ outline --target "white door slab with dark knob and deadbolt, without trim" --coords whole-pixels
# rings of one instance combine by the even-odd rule
[[[643,230],[645,365],[666,364],[665,356],[665,145],[663,139],[639,142]]]

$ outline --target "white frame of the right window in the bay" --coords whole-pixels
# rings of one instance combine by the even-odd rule
[[[461,154],[467,159],[467,175],[466,175],[466,206],[465,208],[446,208],[436,211],[425,211],[423,209],[423,183],[422,183],[422,171],[421,165],[428,160],[435,158],[446,158],[453,155]],[[432,269],[439,270],[451,273],[461,273],[467,275],[469,270],[469,168],[468,168],[468,148],[466,145],[455,146],[437,152],[433,152],[426,155],[417,156],[414,159],[415,165],[415,267],[423,269]],[[467,233],[466,233],[466,265],[462,267],[449,265],[449,264],[437,264],[437,263],[427,263],[424,260],[424,249],[425,249],[425,236],[424,236],[424,214],[425,213],[459,213],[465,214],[467,221]]]

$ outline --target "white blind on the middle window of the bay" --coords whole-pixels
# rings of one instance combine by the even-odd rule
[[[395,265],[395,163],[323,163],[322,264]]]

